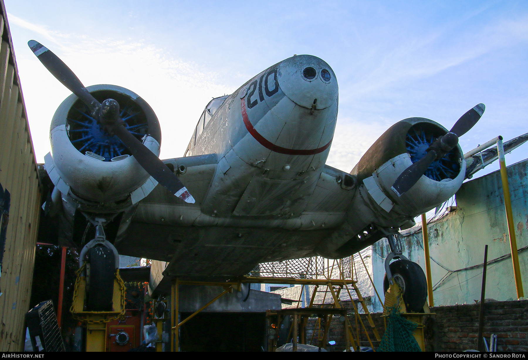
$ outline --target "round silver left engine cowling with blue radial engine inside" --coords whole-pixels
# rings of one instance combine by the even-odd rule
[[[114,85],[87,88],[98,101],[115,99],[129,131],[159,155],[161,129],[145,100],[134,92]],[[117,136],[110,136],[91,118],[87,107],[72,94],[55,111],[50,127],[51,156],[46,171],[63,195],[69,191],[77,201],[111,203],[127,200],[136,191],[135,203],[148,194],[137,190],[152,182]],[[156,185],[147,184],[148,188]]]

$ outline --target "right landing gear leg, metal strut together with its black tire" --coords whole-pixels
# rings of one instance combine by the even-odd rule
[[[396,282],[403,293],[407,311],[422,312],[427,300],[427,280],[422,268],[402,255],[397,235],[388,235],[391,253],[385,259],[383,290]],[[391,260],[398,259],[391,263]]]

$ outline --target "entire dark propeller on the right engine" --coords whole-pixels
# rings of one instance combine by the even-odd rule
[[[467,131],[477,124],[477,121],[484,113],[485,108],[484,104],[480,103],[461,116],[446,135],[439,137],[431,144],[431,146],[429,146],[427,154],[424,157],[403,170],[392,185],[392,190],[398,196],[402,196],[409,191],[410,188],[418,182],[433,161],[441,159],[452,148],[457,146],[458,138],[466,134]]]

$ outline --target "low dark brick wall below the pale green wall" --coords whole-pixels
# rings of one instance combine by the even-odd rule
[[[348,304],[350,306],[350,304]],[[345,307],[348,307],[345,304]],[[477,348],[479,304],[439,306],[431,308],[431,315],[425,322],[424,335],[427,351],[463,351]],[[497,334],[498,351],[528,351],[528,300],[521,301],[491,301],[485,304],[484,336],[489,342],[491,334]],[[380,336],[384,333],[384,324],[381,313],[372,314],[372,319]],[[355,327],[355,317],[350,316],[350,321]],[[366,324],[365,316],[361,316]],[[317,319],[310,318],[306,327],[306,338],[309,343],[312,334],[317,328]],[[370,346],[361,325],[361,346]],[[374,342],[374,336],[369,330],[369,336]],[[317,345],[317,332],[312,345]],[[329,329],[327,341],[334,340],[333,346],[327,346],[328,351],[343,351],[346,346],[344,325],[338,317],[334,317]],[[378,342],[374,342],[377,347]]]

